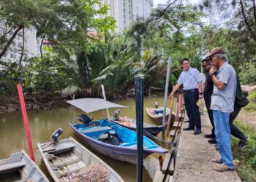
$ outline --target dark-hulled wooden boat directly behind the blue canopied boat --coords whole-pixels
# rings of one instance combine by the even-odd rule
[[[118,116],[118,118],[110,117],[110,122],[114,122],[121,125],[122,127],[127,127],[130,130],[136,131],[136,119],[127,116]],[[150,135],[157,136],[159,132],[161,132],[164,128],[165,126],[162,125],[157,126],[154,124],[143,122],[143,132],[145,135],[149,133]],[[149,137],[149,135],[147,136]]]

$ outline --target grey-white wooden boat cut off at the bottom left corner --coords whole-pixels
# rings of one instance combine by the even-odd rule
[[[48,178],[22,150],[13,153],[10,158],[0,160],[0,181],[46,182]]]

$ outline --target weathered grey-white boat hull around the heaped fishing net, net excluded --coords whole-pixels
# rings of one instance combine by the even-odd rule
[[[69,174],[64,174],[60,176],[61,173],[65,173],[66,171],[64,167],[67,167],[68,170],[72,169],[73,167],[77,167],[75,168],[75,170],[73,168],[74,172],[72,172],[74,173],[74,175],[76,175],[76,173],[79,173],[80,170],[85,169],[85,167],[89,165],[100,164],[104,166],[106,169],[108,169],[108,175],[107,175],[106,181],[124,182],[124,180],[121,178],[120,175],[116,173],[115,170],[113,170],[110,166],[108,166],[105,162],[103,162],[102,159],[99,159],[99,157],[97,157],[91,151],[89,151],[80,143],[78,143],[78,141],[75,141],[74,138],[69,137],[66,139],[62,139],[57,144],[49,145],[50,146],[49,151],[44,151],[45,149],[43,149],[43,146],[48,147],[48,143],[38,143],[37,146],[42,155],[42,159],[44,160],[45,165],[48,168],[48,171],[54,181],[56,182],[69,181],[69,178],[67,177]],[[54,147],[52,146],[55,147],[55,150],[53,149]],[[50,157],[56,156],[55,162],[49,159],[48,157],[49,154],[50,154]],[[64,165],[58,164],[59,161],[61,161],[62,163],[63,161],[65,161],[65,164]],[[56,168],[58,166],[59,168]]]

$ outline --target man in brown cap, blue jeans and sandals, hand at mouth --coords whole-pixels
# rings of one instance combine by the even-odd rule
[[[214,170],[219,172],[234,170],[229,117],[234,108],[236,72],[227,63],[225,52],[221,47],[211,50],[207,57],[212,65],[209,71],[209,76],[214,82],[214,92],[211,95],[211,110],[213,111],[215,135],[220,154],[220,158],[212,159],[212,162],[219,164],[214,167]]]

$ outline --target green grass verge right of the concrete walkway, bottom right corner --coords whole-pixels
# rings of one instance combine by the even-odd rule
[[[238,139],[232,137],[233,158],[240,161],[236,171],[242,181],[256,181],[256,130],[238,120],[235,124],[244,132],[246,137],[250,138],[246,148],[238,149],[236,147]]]

